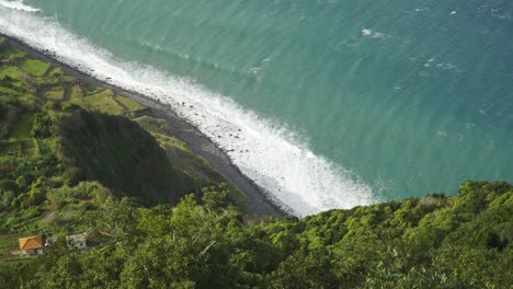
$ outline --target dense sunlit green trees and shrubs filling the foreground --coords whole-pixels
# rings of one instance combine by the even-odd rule
[[[3,266],[12,288],[510,288],[513,187],[428,196],[247,226],[221,192],[202,205],[107,198],[83,216],[112,242]]]

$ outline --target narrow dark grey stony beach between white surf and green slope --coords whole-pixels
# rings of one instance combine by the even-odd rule
[[[141,93],[129,91],[121,86],[111,84],[103,80],[80,71],[70,65],[64,63],[52,57],[53,51],[39,50],[22,41],[0,33],[1,37],[8,39],[14,47],[23,50],[27,55],[42,59],[53,66],[59,67],[67,74],[80,79],[86,83],[102,86],[112,90],[115,94],[130,99],[140,105],[148,107],[152,115],[166,119],[173,128],[173,135],[183,141],[191,151],[205,159],[212,169],[232,185],[235,185],[246,196],[249,207],[256,215],[274,215],[283,218],[293,213],[293,210],[285,204],[282,204],[264,188],[255,184],[250,177],[244,175],[240,169],[235,165],[228,154],[220,149],[210,138],[204,135],[197,127],[190,124],[186,119],[175,114],[169,105],[146,96]]]

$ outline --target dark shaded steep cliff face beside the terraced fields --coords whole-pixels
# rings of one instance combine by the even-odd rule
[[[118,196],[137,197],[146,205],[175,204],[196,190],[194,182],[172,166],[156,139],[137,123],[79,109],[60,119],[58,131],[68,163]]]

